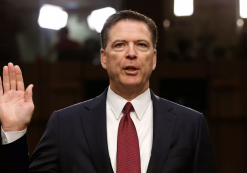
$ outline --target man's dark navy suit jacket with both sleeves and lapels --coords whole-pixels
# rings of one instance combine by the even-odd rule
[[[55,111],[29,159],[26,136],[0,145],[0,172],[113,173],[107,146],[106,95]],[[204,116],[162,99],[153,101],[148,173],[217,173]]]

